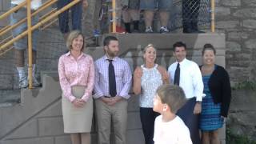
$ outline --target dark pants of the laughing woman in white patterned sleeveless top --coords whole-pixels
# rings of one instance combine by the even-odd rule
[[[142,122],[142,130],[146,144],[154,144],[154,119],[159,113],[154,112],[153,108],[140,108],[140,117]]]

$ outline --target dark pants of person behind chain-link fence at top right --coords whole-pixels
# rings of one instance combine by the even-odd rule
[[[198,31],[200,0],[182,0],[182,24],[184,33]]]

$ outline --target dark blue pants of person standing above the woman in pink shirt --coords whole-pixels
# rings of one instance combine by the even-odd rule
[[[72,2],[72,0],[58,0],[58,10]],[[82,2],[78,2],[70,8],[72,17],[72,30],[81,30],[82,19]],[[59,29],[62,34],[66,34],[70,31],[69,28],[69,10],[64,11],[58,15]]]

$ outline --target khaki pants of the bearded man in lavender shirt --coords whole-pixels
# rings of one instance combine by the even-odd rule
[[[108,106],[101,99],[95,101],[98,123],[98,144],[110,143],[111,120],[114,127],[115,144],[126,144],[127,100],[122,99]]]

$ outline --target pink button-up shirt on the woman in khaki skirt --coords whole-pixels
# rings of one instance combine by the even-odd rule
[[[63,54],[58,60],[59,82],[66,98],[73,102],[71,86],[86,86],[82,99],[86,102],[94,89],[94,60],[90,55],[82,53],[77,60],[70,52]]]

